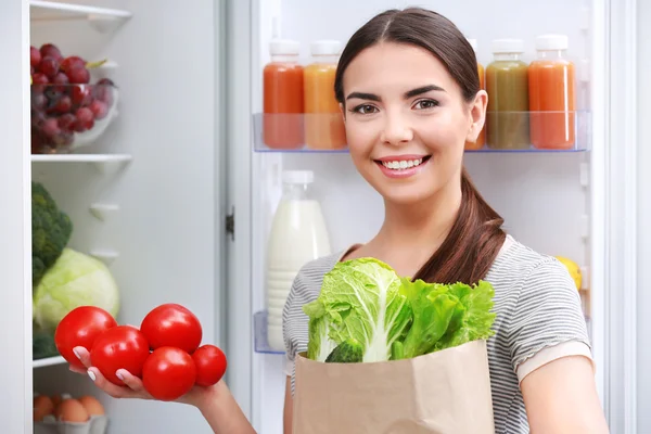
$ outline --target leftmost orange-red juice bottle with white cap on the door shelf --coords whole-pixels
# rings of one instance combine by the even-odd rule
[[[263,141],[272,149],[302,148],[303,66],[298,64],[299,43],[272,40],[271,62],[264,71]]]

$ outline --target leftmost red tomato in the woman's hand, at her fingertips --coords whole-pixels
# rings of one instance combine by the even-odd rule
[[[82,346],[90,352],[94,340],[114,327],[117,327],[117,321],[106,310],[95,306],[79,306],[71,310],[56,326],[54,344],[68,363],[86,369],[73,353],[73,348]]]

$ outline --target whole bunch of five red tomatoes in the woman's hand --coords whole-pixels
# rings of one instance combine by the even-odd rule
[[[216,384],[226,372],[226,356],[215,345],[201,345],[199,319],[186,307],[164,304],[151,310],[140,329],[118,326],[106,310],[80,306],[56,327],[54,343],[68,363],[85,369],[73,348],[90,353],[93,367],[106,380],[124,386],[118,369],[142,380],[156,399],[175,400],[194,386]]]

